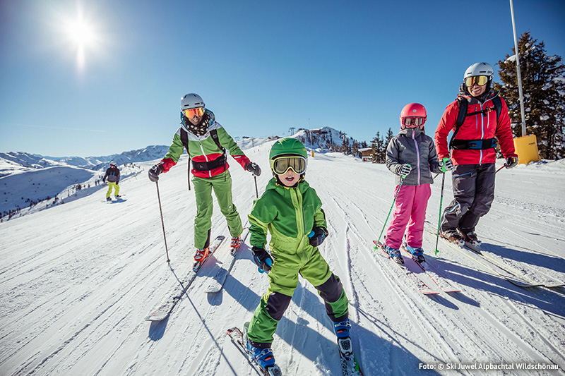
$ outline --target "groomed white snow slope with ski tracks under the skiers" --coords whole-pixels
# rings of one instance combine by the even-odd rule
[[[270,178],[271,144],[246,150],[263,168],[259,194]],[[125,196],[119,202],[105,202],[100,187],[0,223],[0,375],[256,375],[225,335],[251,318],[268,286],[248,243],[220,293],[203,290],[227,262],[227,243],[167,320],[144,320],[188,272],[194,255],[196,207],[183,158],[158,185],[170,265],[157,189],[147,178],[153,162],[120,182]],[[234,202],[245,223],[254,178],[230,161]],[[545,283],[565,281],[564,163],[501,170],[492,210],[477,226],[490,257]],[[426,257],[462,291],[424,296],[372,247],[393,200],[394,176],[384,165],[316,153],[307,181],[323,201],[330,235],[321,253],[350,300],[365,375],[563,375],[565,289],[521,289],[480,256],[442,241],[434,255],[436,238],[425,232]],[[432,227],[440,188],[441,176],[427,211]],[[451,174],[444,196],[445,207],[453,197]],[[218,235],[229,236],[215,206],[212,236]],[[411,260],[407,265],[436,289]],[[303,279],[273,351],[285,375],[341,374],[331,323]],[[515,363],[538,369],[518,370]],[[460,369],[483,364],[513,370]],[[539,369],[548,364],[559,370]]]

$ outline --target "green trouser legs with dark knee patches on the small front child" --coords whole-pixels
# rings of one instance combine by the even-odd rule
[[[326,305],[326,313],[333,322],[347,318],[349,302],[339,277],[331,271],[318,248],[306,262],[299,250],[295,255],[281,255],[273,252],[273,267],[268,274],[267,293],[255,310],[249,324],[247,336],[251,343],[260,348],[270,347],[278,322],[292,299],[298,286],[298,274],[307,279],[318,290]]]

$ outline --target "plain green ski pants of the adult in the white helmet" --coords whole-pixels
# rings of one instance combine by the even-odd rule
[[[212,228],[213,198],[212,190],[218,199],[220,211],[224,214],[231,236],[243,232],[242,219],[232,201],[232,177],[228,171],[211,178],[192,178],[196,195],[196,217],[194,218],[194,246],[198,249],[210,245]]]

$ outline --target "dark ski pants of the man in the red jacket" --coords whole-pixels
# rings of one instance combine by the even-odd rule
[[[441,232],[460,229],[464,234],[475,231],[480,217],[487,214],[494,200],[496,166],[459,164],[452,171],[453,201],[446,207]]]

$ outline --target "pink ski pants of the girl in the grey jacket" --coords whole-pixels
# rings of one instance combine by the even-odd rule
[[[396,186],[398,190],[398,186]],[[394,193],[396,194],[396,190]],[[432,188],[429,184],[420,186],[402,186],[395,202],[395,210],[391,225],[386,231],[385,243],[391,248],[400,248],[406,225],[406,243],[410,247],[422,248],[422,236],[424,233],[424,220],[426,219],[426,207]]]

